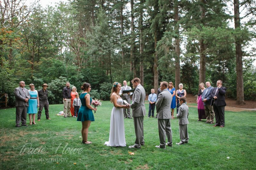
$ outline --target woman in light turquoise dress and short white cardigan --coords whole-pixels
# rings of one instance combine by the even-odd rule
[[[30,94],[30,99],[28,100],[28,116],[29,116],[29,124],[32,125],[36,124],[35,122],[35,117],[37,113],[37,108],[39,107],[39,98],[38,98],[38,93],[35,90],[35,85],[34,84],[29,84],[30,90],[28,90]],[[32,117],[33,117],[33,122],[32,122]]]

